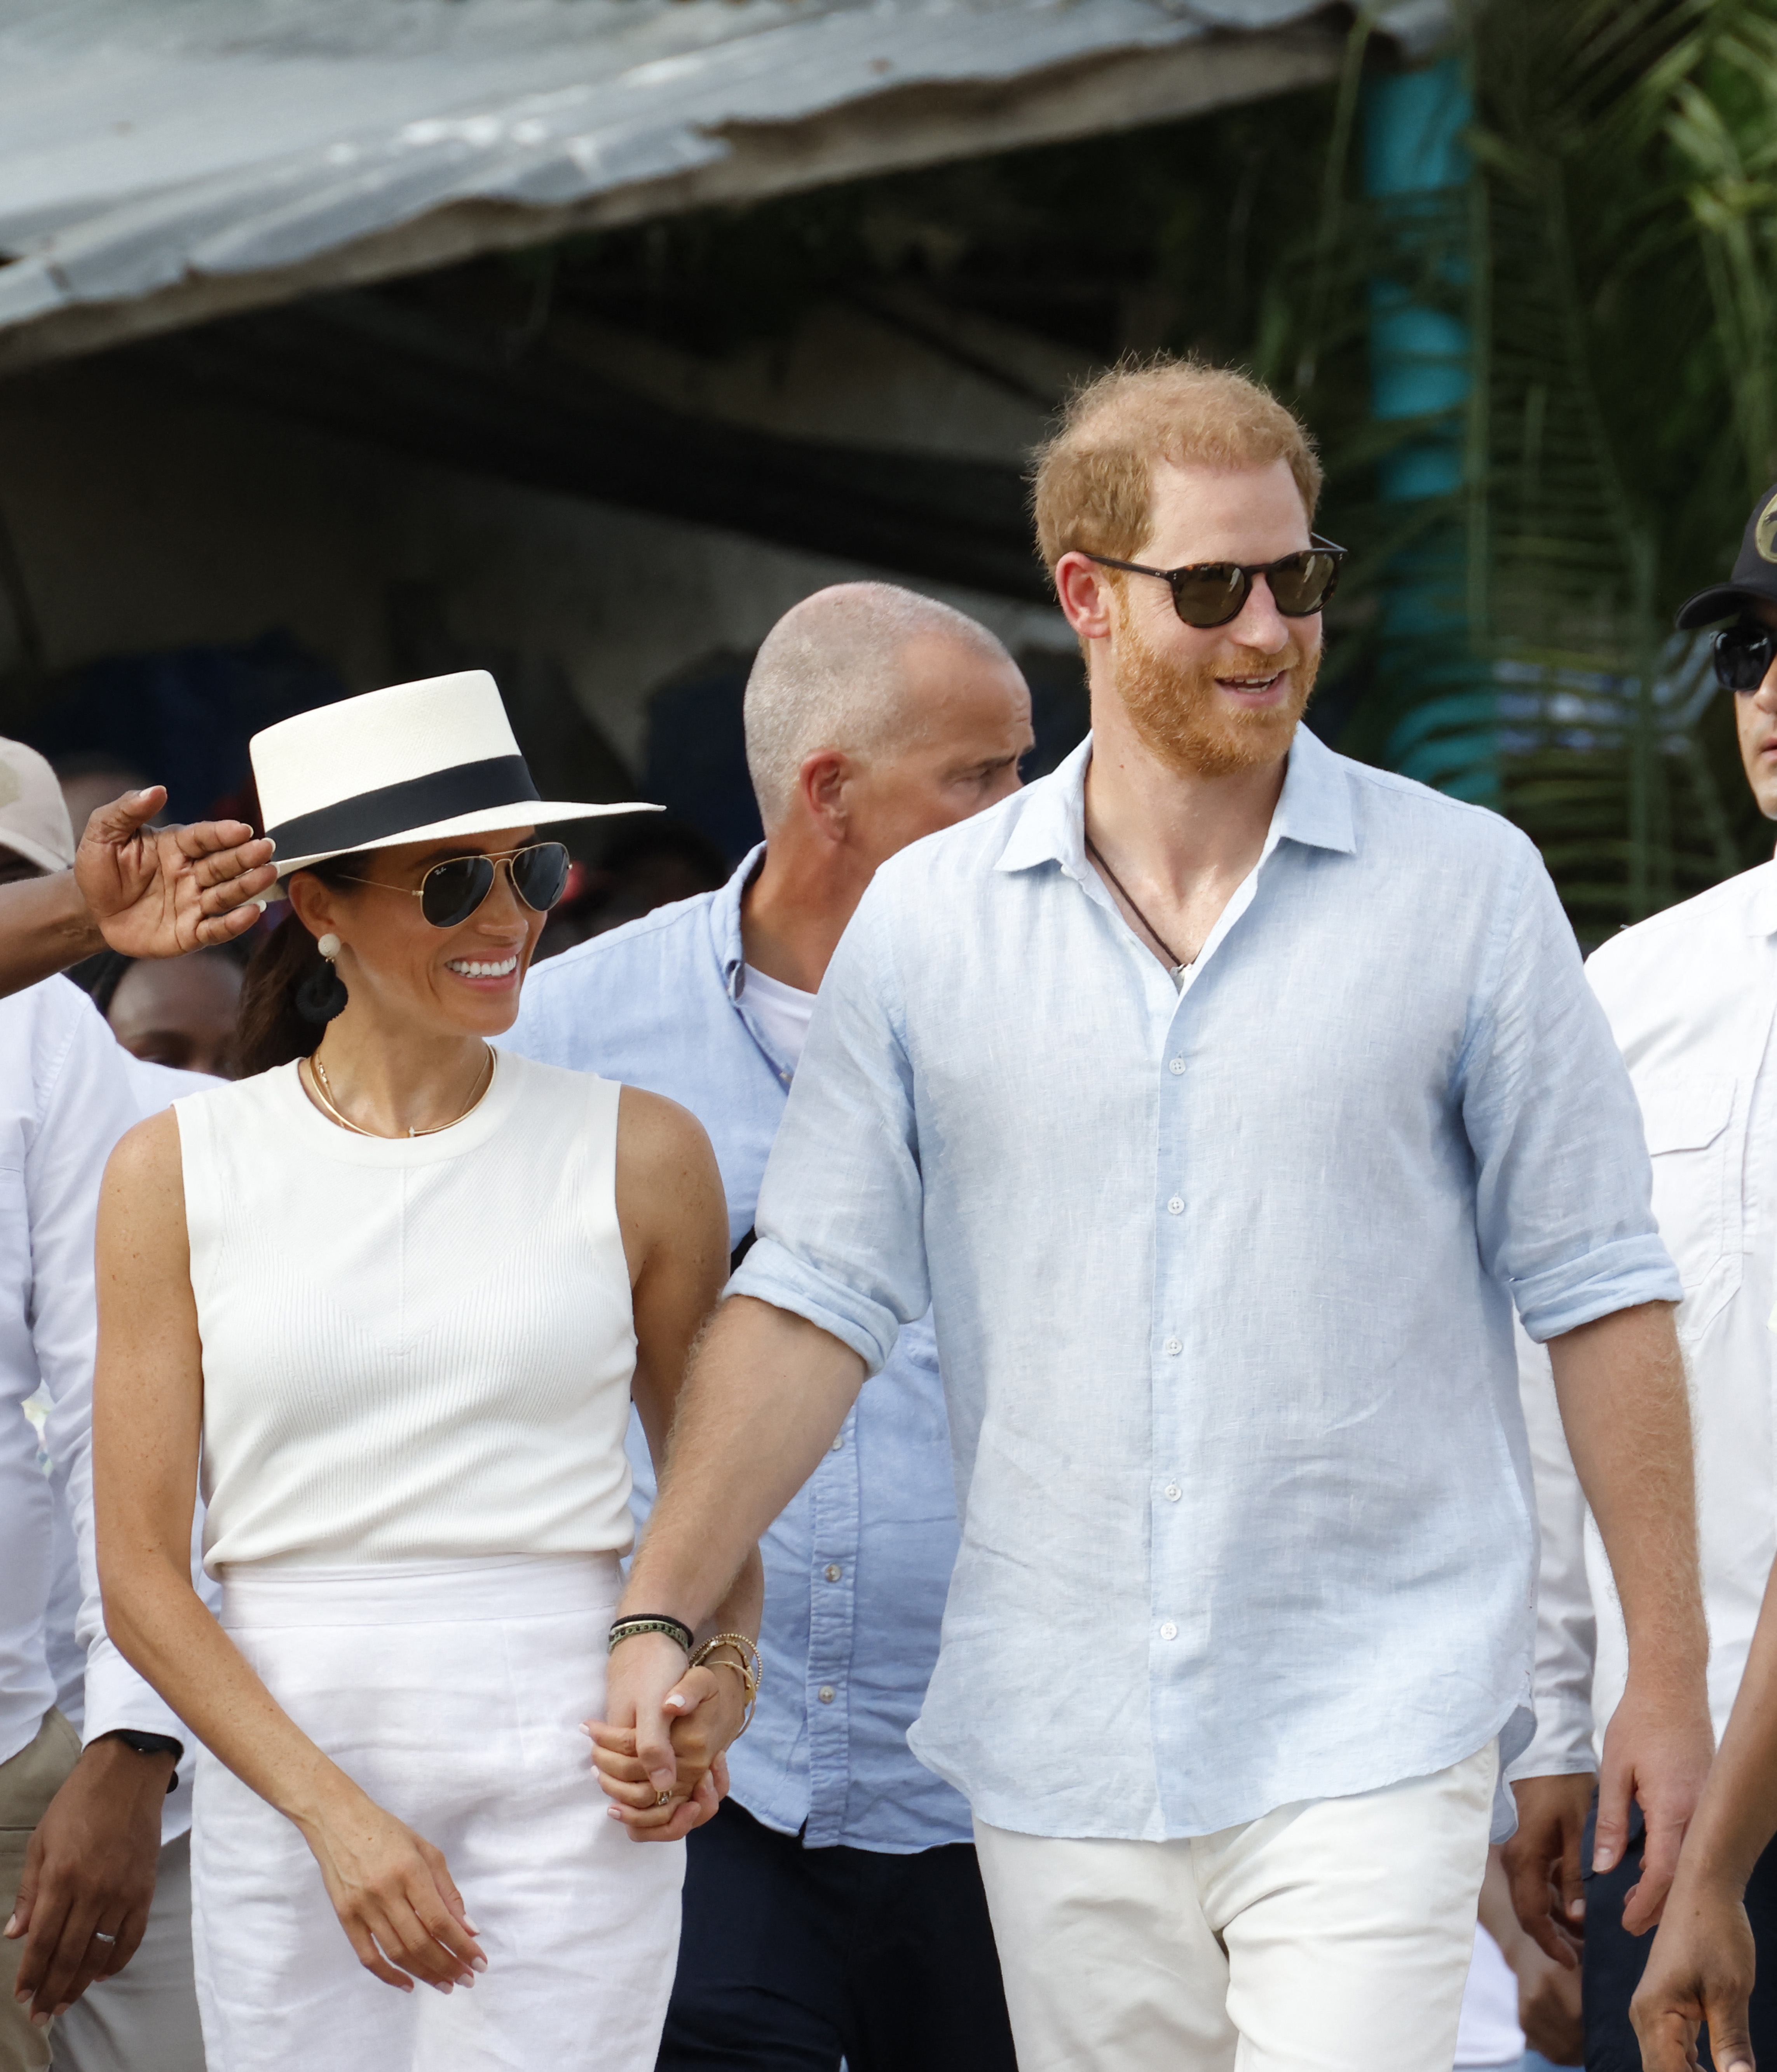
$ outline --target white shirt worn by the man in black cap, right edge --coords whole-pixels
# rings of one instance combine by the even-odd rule
[[[1630,1067],[1653,1206],[1684,1278],[1709,1709],[1727,1724],[1777,1550],[1777,864],[1626,928],[1586,966]],[[1520,1341],[1543,1558],[1536,1738],[1512,1776],[1597,1767],[1628,1674],[1624,1620],[1555,1409],[1549,1359]]]

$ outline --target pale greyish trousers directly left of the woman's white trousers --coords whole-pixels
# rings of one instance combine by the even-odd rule
[[[191,1836],[160,1852],[137,1954],[56,2018],[56,2072],[203,2072],[191,1977]]]

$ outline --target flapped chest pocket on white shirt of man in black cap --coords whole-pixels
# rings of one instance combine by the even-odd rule
[[[1653,1158],[1653,1212],[1684,1280],[1680,1336],[1696,1339],[1740,1287],[1736,1082],[1686,1073],[1638,1088]]]

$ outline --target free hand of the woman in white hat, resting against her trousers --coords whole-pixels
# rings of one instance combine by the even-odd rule
[[[487,1970],[475,1941],[479,1931],[442,1852],[394,1813],[352,1788],[297,1825],[367,1973],[402,1993],[413,1991],[415,1979],[448,1993],[454,1985],[475,1985],[475,1973]]]

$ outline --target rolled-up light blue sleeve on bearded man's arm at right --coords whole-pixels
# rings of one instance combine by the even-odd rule
[[[1528,841],[1489,961],[1462,1061],[1487,1268],[1539,1345],[1615,1310],[1677,1301],[1634,1088]]]

